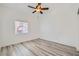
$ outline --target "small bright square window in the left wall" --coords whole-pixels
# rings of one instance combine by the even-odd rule
[[[28,23],[15,21],[15,34],[25,34],[28,33]]]

